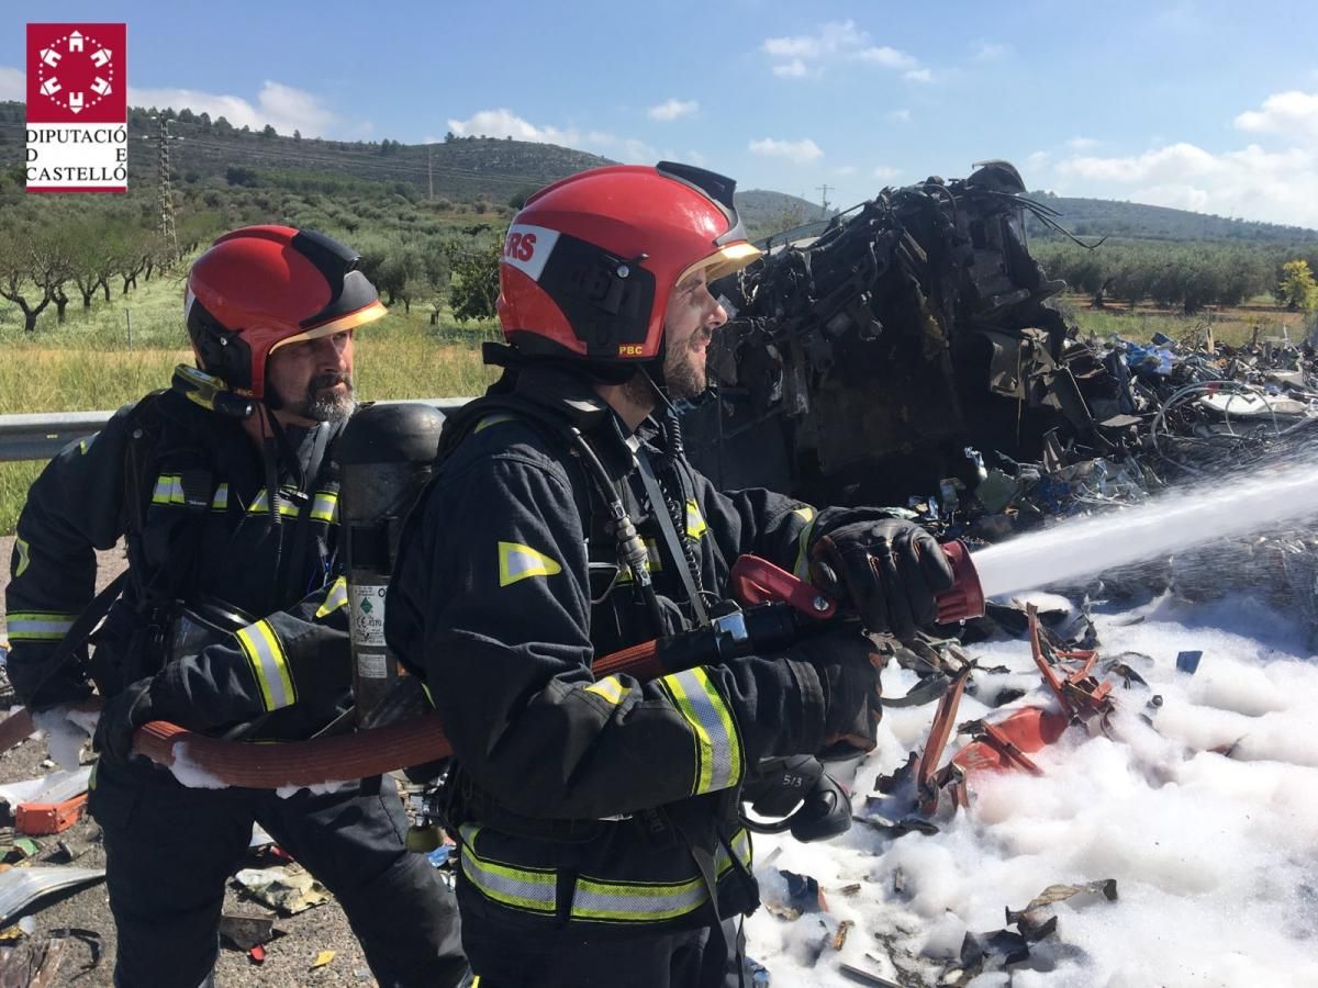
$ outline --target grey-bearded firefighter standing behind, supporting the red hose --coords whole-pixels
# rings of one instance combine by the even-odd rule
[[[357,260],[314,231],[216,240],[185,296],[196,368],[63,449],[18,518],[8,668],[38,713],[90,696],[75,626],[94,599],[94,551],[127,540],[123,591],[90,663],[104,697],[90,806],[124,988],[212,981],[225,881],[254,822],[337,897],[380,984],[467,974],[456,905],[405,852],[389,779],[285,798],[185,788],[132,752],[152,719],[278,742],[348,710],[335,439],[355,407],[353,335],[385,314]]]

